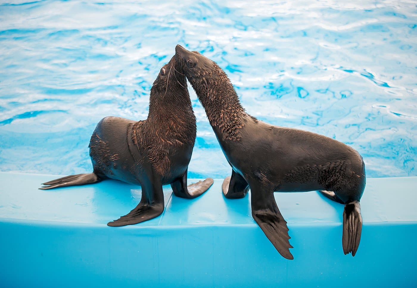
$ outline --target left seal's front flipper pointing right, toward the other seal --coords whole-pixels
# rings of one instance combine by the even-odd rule
[[[187,186],[187,170],[181,178],[171,184],[174,195],[178,197],[187,199],[196,198],[206,192],[214,182],[213,179],[206,178],[204,181],[198,181]]]

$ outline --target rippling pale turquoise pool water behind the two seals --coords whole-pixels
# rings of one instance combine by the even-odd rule
[[[215,60],[259,119],[351,145],[369,177],[417,175],[415,2],[275,2],[0,1],[0,170],[90,171],[96,123],[145,119],[181,44]],[[231,169],[190,93],[189,177],[223,178]]]

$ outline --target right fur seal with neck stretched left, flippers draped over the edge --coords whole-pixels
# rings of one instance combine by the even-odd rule
[[[344,254],[354,256],[361,238],[359,200],[366,182],[361,155],[332,138],[257,120],[245,112],[216,63],[180,45],[176,57],[232,167],[222,185],[224,196],[243,198],[250,188],[254,220],[284,258],[294,259],[273,192],[322,190],[345,205],[342,247]]]

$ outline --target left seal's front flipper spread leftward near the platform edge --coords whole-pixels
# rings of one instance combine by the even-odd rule
[[[108,226],[118,227],[133,225],[158,217],[164,208],[161,180],[143,183],[142,199],[135,209],[117,220],[107,223]]]

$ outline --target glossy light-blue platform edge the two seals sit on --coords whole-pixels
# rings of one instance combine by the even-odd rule
[[[294,260],[251,218],[250,197],[224,198],[222,180],[194,200],[166,186],[160,217],[113,228],[106,223],[137,205],[140,187],[37,189],[58,177],[0,173],[1,287],[417,285],[417,177],[367,179],[355,257],[342,250],[343,205],[317,192],[275,193]]]

